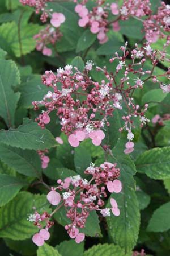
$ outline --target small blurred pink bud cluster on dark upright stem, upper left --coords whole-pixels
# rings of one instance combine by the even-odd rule
[[[42,54],[46,56],[52,55],[52,49],[46,46],[48,46],[48,44],[53,44],[54,46],[61,36],[63,36],[63,34],[59,31],[59,28],[54,28],[50,25],[46,26],[33,37],[36,39],[37,51],[42,51]]]

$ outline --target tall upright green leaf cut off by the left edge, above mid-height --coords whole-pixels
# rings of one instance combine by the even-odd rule
[[[0,32],[1,34],[1,32]],[[20,93],[14,93],[12,86],[20,83],[16,64],[12,60],[0,62],[0,115],[8,127],[14,126],[15,110]]]

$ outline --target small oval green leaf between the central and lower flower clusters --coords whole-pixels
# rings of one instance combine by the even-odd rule
[[[79,147],[75,148],[74,164],[75,164],[75,169],[78,172],[78,174],[80,174],[83,177],[84,171],[86,170],[86,168],[88,166],[90,166],[91,162],[92,162],[91,154],[87,150],[86,147],[84,147],[84,146],[82,146],[82,144],[80,144]]]

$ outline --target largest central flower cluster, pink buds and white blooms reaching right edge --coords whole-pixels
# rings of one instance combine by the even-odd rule
[[[167,40],[166,46],[168,44],[169,40]],[[123,52],[122,56],[116,52],[115,57],[110,59],[111,63],[113,61],[117,63],[114,72],[110,74],[106,67],[96,67],[97,71],[103,72],[105,75],[105,80],[101,80],[101,83],[93,81],[88,75],[93,68],[92,61],[87,61],[83,72],[74,67],[74,74],[71,65],[58,68],[56,74],[46,71],[45,75],[42,75],[42,83],[49,88],[49,92],[41,101],[32,102],[35,110],[40,106],[44,106],[46,109],[42,110],[42,113],[36,118],[39,126],[43,129],[50,122],[49,113],[56,111],[62,126],[61,131],[69,137],[71,146],[78,147],[80,142],[87,138],[91,138],[92,143],[99,146],[105,137],[104,127],[105,125],[109,126],[107,118],[113,116],[115,109],[122,110],[122,103],[124,103],[128,114],[122,117],[125,125],[120,127],[120,131],[124,129],[128,131],[128,141],[133,141],[134,118],[139,118],[141,127],[149,121],[145,117],[148,104],[146,103],[142,107],[143,109],[139,105],[135,105],[134,90],[142,89],[145,81],[149,79],[160,84],[162,88],[159,77],[164,76],[169,79],[170,69],[163,71],[160,75],[153,75],[159,61],[167,58],[166,46],[163,51],[156,52],[148,42],[140,48],[136,44],[136,48],[129,53],[126,50],[127,45],[126,42],[125,47],[120,48]],[[127,60],[129,56],[131,64],[129,59]],[[151,69],[145,68],[147,60],[152,63]],[[121,74],[121,79],[117,79],[118,74]],[[135,75],[136,79],[130,81],[130,74]],[[58,89],[58,84],[62,89]],[[133,147],[134,145],[131,143],[126,144],[125,153],[132,152]]]

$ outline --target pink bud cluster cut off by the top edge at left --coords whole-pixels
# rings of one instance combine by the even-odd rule
[[[52,2],[53,0],[20,0],[22,5],[28,5],[31,7],[35,7],[36,14],[39,14],[41,12],[40,20],[41,22],[46,22],[47,18],[49,17],[49,11],[52,10],[46,10],[47,7],[46,2]]]

